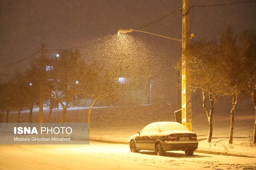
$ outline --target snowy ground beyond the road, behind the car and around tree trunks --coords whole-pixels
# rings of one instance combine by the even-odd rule
[[[141,110],[146,109],[143,107]],[[151,108],[151,107],[150,107]],[[87,110],[85,108],[69,108],[67,113],[67,119],[76,118],[77,120],[86,121]],[[91,131],[90,139],[96,139],[98,141],[112,141],[127,143],[130,136],[137,133],[148,123],[154,121],[174,121],[172,114],[161,115],[160,113],[153,114],[151,112],[140,113],[130,111],[130,107],[119,108],[106,108],[93,110],[91,117]],[[158,107],[159,109],[159,107]],[[62,109],[54,109],[52,113],[52,121],[58,122]],[[116,111],[119,111],[118,113]],[[47,115],[47,111],[45,111]],[[35,112],[33,116],[36,117],[38,112]],[[12,114],[12,116],[15,114]],[[22,114],[24,119],[27,120],[26,113]],[[12,117],[11,116],[11,117]],[[15,118],[15,117],[14,117]],[[85,119],[84,119],[85,118]],[[16,118],[15,118],[16,119]],[[37,119],[36,119],[37,120]],[[227,113],[214,113],[213,117],[213,138],[212,143],[206,141],[208,135],[208,122],[206,115],[202,113],[195,114],[192,118],[193,131],[197,134],[200,151],[207,151],[206,153],[225,154],[225,155],[239,155],[239,156],[256,156],[256,149],[249,146],[249,135],[252,135],[254,127],[255,113],[237,112],[235,114],[234,122],[234,142],[233,145],[228,144],[228,135],[230,129],[230,116]],[[256,161],[255,161],[256,162]]]

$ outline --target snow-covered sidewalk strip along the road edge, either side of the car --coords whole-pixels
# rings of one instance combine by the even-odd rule
[[[103,143],[128,144],[130,136],[136,134],[134,129],[114,129],[114,130],[92,130],[90,132],[90,141]],[[207,136],[198,135],[198,149],[195,152],[218,154],[227,156],[256,157],[256,148],[248,146],[247,137],[235,137],[233,145],[228,144],[228,137],[213,138],[211,143],[207,142]],[[74,137],[82,138],[79,134]]]

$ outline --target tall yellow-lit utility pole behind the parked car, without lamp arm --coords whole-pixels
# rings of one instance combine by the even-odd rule
[[[191,57],[187,55],[190,45],[190,0],[182,2],[182,125],[192,131],[192,104],[191,104]]]

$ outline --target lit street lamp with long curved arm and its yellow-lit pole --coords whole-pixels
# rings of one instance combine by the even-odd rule
[[[185,15],[185,14],[184,14]],[[186,14],[187,15],[187,14]],[[184,17],[184,16],[183,16]],[[186,24],[186,27],[188,27],[188,24]],[[188,130],[192,131],[192,104],[191,104],[191,73],[190,73],[190,58],[188,55],[186,55],[186,46],[190,44],[190,39],[192,37],[195,37],[194,33],[189,34],[188,29],[185,29],[182,27],[182,39],[176,39],[176,38],[171,38],[171,37],[166,37],[163,35],[158,35],[155,33],[150,33],[146,31],[140,31],[136,29],[119,29],[118,30],[118,35],[120,33],[130,33],[132,31],[138,31],[138,32],[143,32],[143,33],[148,33],[152,35],[157,35],[160,37],[168,38],[168,39],[173,39],[176,41],[181,41],[182,42],[182,125],[184,125]]]

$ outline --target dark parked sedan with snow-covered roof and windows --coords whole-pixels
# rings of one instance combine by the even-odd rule
[[[131,152],[154,150],[161,156],[171,150],[182,150],[187,156],[192,156],[198,148],[196,133],[172,121],[150,123],[131,136],[128,142]]]

